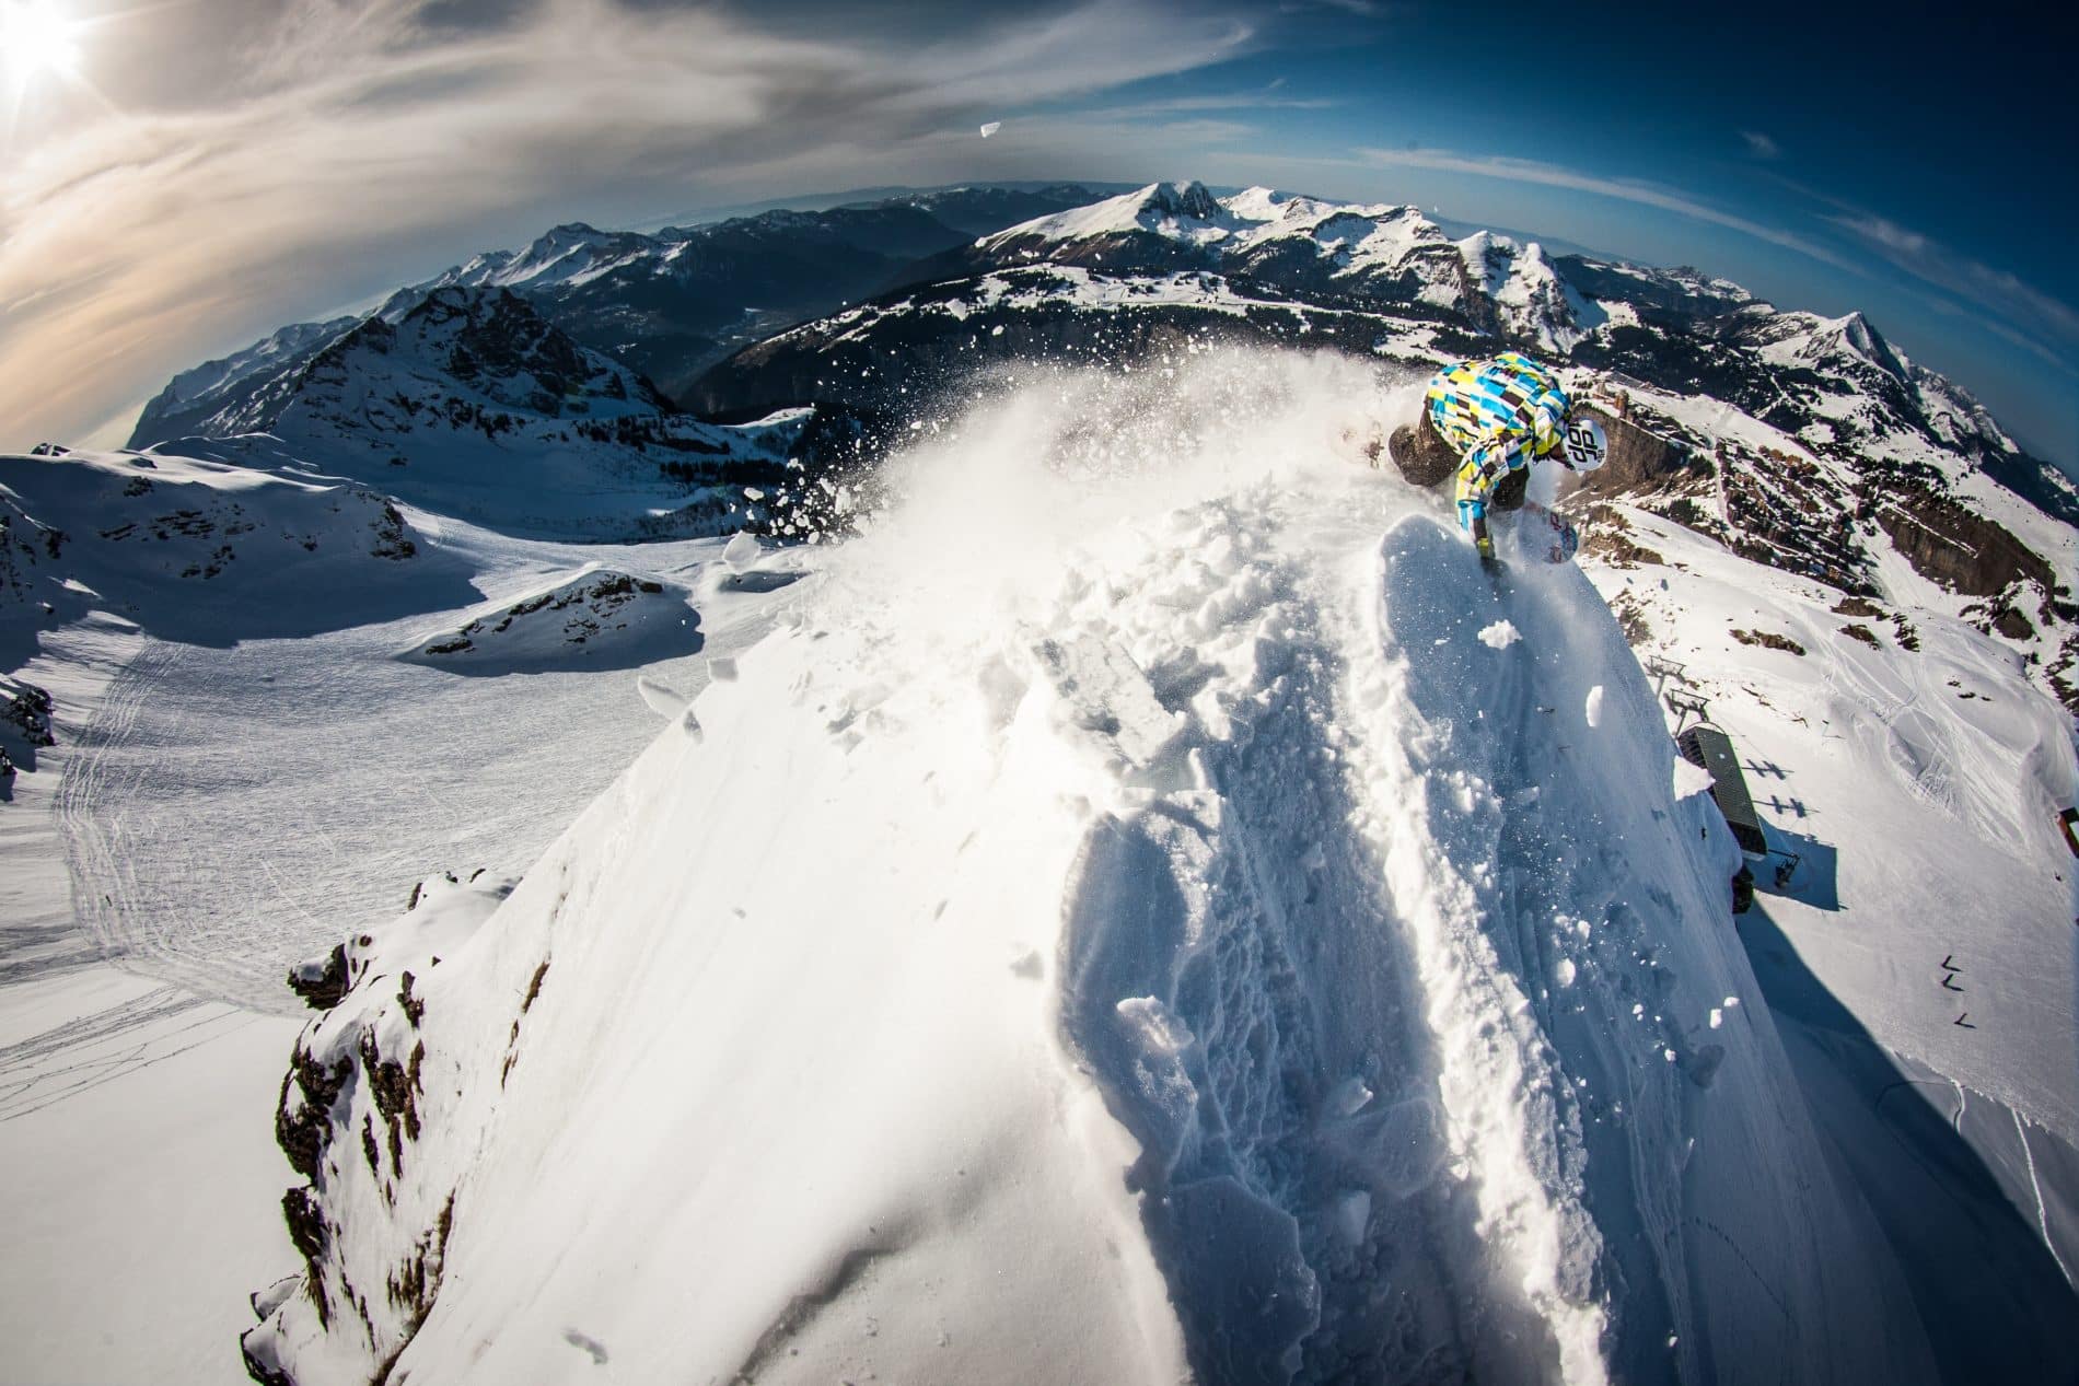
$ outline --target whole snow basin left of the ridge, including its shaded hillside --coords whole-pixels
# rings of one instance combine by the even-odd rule
[[[356,547],[380,501],[347,486],[166,455],[17,461],[17,495],[106,592],[69,592],[91,611],[64,623],[0,607],[6,650],[42,628],[8,673],[52,694],[58,736],[33,756],[10,740],[23,773],[0,785],[0,1380],[239,1382],[247,1295],[297,1263],[272,1108],[310,1012],[283,972],[393,916],[430,869],[516,875],[657,727],[626,659],[455,677],[397,659],[443,615],[395,613],[482,592],[505,611],[617,563],[678,592],[692,636],[649,671],[699,690],[798,569],[782,553],[723,574],[721,540],[536,544],[426,513],[397,563]],[[123,495],[137,476],[154,490]],[[187,519],[131,557],[96,507],[100,528]],[[181,578],[227,538],[216,578]]]

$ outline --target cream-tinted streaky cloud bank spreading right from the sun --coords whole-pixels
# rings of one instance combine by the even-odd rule
[[[474,25],[455,10],[304,0],[214,104],[100,116],[10,150],[6,441],[83,430],[204,349],[393,285],[399,264],[462,258],[491,229],[973,177],[981,118],[1252,42],[1245,21],[1158,0],[973,19],[925,44],[782,35],[709,6],[541,0],[484,6]],[[1195,125],[1183,133],[1239,129]]]

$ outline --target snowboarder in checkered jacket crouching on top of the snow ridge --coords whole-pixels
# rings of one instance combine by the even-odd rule
[[[1551,457],[1570,472],[1603,465],[1603,426],[1576,414],[1557,376],[1526,355],[1459,362],[1430,376],[1422,418],[1393,430],[1387,451],[1401,476],[1435,486],[1457,474],[1457,524],[1480,559],[1495,561],[1489,507],[1518,509],[1530,488],[1530,461]]]

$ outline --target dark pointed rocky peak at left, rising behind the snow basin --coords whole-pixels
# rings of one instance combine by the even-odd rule
[[[509,532],[595,536],[719,532],[811,426],[807,409],[736,426],[678,414],[511,289],[455,285],[222,372],[183,418],[198,432],[154,455],[347,476]]]

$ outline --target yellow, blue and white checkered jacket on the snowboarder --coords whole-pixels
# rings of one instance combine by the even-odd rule
[[[1474,530],[1505,472],[1553,453],[1565,436],[1572,401],[1559,378],[1516,351],[1491,362],[1445,366],[1428,382],[1428,416],[1464,457],[1457,470],[1457,522]],[[1484,532],[1484,524],[1478,526]]]

